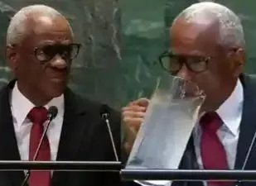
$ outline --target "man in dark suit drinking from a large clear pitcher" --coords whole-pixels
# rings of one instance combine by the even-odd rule
[[[193,4],[173,21],[170,50],[160,57],[162,67],[172,75],[196,82],[206,94],[180,169],[256,169],[255,144],[244,165],[256,131],[256,81],[242,74],[244,46],[244,31],[239,17],[220,4]],[[148,100],[142,98],[123,107],[127,154],[133,146],[147,105]],[[172,185],[229,184],[232,183],[174,182]],[[152,182],[151,185],[159,183]],[[160,185],[167,186],[170,182]]]

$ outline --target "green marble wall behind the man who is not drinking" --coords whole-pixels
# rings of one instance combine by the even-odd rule
[[[116,0],[1,0],[0,84],[12,77],[4,60],[10,17],[21,7],[41,3],[64,14],[74,29],[75,41],[83,45],[73,65],[70,87],[88,98],[120,107],[120,11]]]

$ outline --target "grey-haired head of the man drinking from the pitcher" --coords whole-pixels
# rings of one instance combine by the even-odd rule
[[[233,92],[244,68],[244,31],[239,17],[214,2],[187,7],[170,29],[167,68],[195,82],[206,95],[203,110],[215,111]]]

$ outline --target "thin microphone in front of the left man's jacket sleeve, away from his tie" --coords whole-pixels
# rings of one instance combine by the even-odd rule
[[[117,153],[117,150],[116,150],[116,147],[115,147],[115,144],[114,144],[114,137],[113,137],[111,127],[110,127],[110,124],[109,124],[109,107],[107,105],[102,105],[101,106],[100,116],[104,120],[104,122],[107,124],[111,145],[112,145],[112,148],[113,148],[113,151],[114,151],[114,157],[115,157],[115,160],[118,161],[118,153]]]

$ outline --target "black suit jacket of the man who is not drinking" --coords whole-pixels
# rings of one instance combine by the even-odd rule
[[[0,160],[20,160],[12,113],[10,92],[14,81],[0,91]],[[101,104],[80,98],[66,88],[65,114],[57,160],[115,160],[108,128],[101,119]],[[22,109],[22,107],[21,107]],[[110,109],[110,108],[109,108]],[[120,117],[110,109],[114,141],[120,151]],[[1,186],[20,186],[24,172],[0,172]],[[118,173],[54,172],[51,186],[118,186]]]

